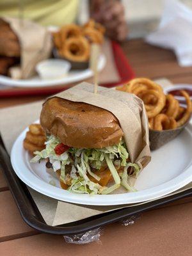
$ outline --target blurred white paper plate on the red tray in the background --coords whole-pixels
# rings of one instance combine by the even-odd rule
[[[98,70],[102,70],[106,65],[106,57],[102,54],[99,58]],[[31,79],[15,80],[7,76],[0,76],[0,84],[4,86],[19,86],[19,87],[44,87],[44,86],[56,86],[60,84],[70,84],[83,81],[88,77],[92,77],[93,72],[90,68],[84,70],[73,70],[68,73],[67,76],[60,79],[42,80],[40,77],[31,77]]]

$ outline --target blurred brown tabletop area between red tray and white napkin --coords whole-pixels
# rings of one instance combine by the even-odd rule
[[[131,40],[123,45],[124,52],[136,76],[158,77],[182,76],[189,74],[192,82],[192,67],[180,67],[172,51],[149,45],[143,40]]]

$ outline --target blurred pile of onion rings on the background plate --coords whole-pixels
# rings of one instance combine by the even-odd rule
[[[63,26],[52,37],[61,57],[69,61],[85,62],[90,57],[90,44],[102,44],[104,32],[105,28],[91,19],[84,26]]]

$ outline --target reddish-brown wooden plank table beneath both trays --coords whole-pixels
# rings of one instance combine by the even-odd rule
[[[192,67],[179,67],[173,52],[152,47],[142,40],[125,42],[122,47],[136,76],[192,83]],[[43,97],[0,99],[0,107],[40,99]],[[101,237],[102,244],[78,246],[65,243],[61,236],[38,234],[28,227],[20,217],[1,172],[0,191],[0,255],[192,255],[191,200],[180,200],[146,212],[128,227],[121,223],[108,225]]]

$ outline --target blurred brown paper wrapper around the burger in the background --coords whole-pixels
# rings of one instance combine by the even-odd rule
[[[46,28],[30,20],[3,17],[10,24],[20,42],[20,74],[17,68],[17,77],[14,70],[10,70],[10,76],[17,79],[27,79],[35,74],[35,66],[38,62],[51,56],[52,38]]]

